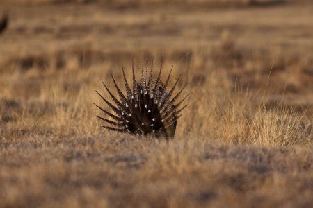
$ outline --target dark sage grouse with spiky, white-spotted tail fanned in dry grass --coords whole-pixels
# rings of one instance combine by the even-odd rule
[[[141,81],[137,83],[134,73],[133,62],[133,90],[131,91],[129,83],[127,83],[127,79],[125,78],[124,69],[122,67],[122,73],[126,88],[126,96],[122,94],[120,87],[118,87],[118,85],[116,84],[115,79],[113,78],[113,75],[111,73],[111,77],[118,92],[118,96],[120,97],[120,101],[118,101],[118,99],[113,96],[112,92],[108,89],[108,87],[106,87],[106,85],[102,81],[102,84],[106,88],[106,91],[109,92],[109,95],[116,105],[115,106],[107,101],[104,96],[96,91],[97,94],[101,96],[103,101],[107,105],[109,105],[109,107],[111,107],[113,112],[115,112],[116,114],[111,114],[110,112],[104,110],[102,107],[99,107],[99,105],[93,103],[99,108],[99,110],[102,110],[104,114],[114,120],[111,121],[109,119],[103,118],[102,116],[96,115],[97,118],[106,123],[106,125],[102,125],[102,128],[114,130],[117,132],[129,132],[133,135],[153,135],[155,137],[166,138],[174,137],[177,119],[182,116],[182,114],[180,113],[187,105],[184,105],[180,109],[179,106],[187,98],[188,95],[182,98],[182,101],[179,101],[179,103],[175,104],[175,101],[177,101],[177,98],[182,93],[186,85],[182,87],[182,89],[172,98],[172,94],[181,76],[177,78],[172,89],[167,92],[166,89],[168,88],[168,81],[170,79],[170,73],[172,72],[172,69],[170,70],[170,73],[168,74],[168,78],[164,85],[161,83],[160,80],[162,66],[160,67],[157,80],[152,80],[152,69],[153,61],[151,64],[149,76],[147,74],[147,67],[145,69],[145,76],[144,69],[142,68],[142,78]]]

